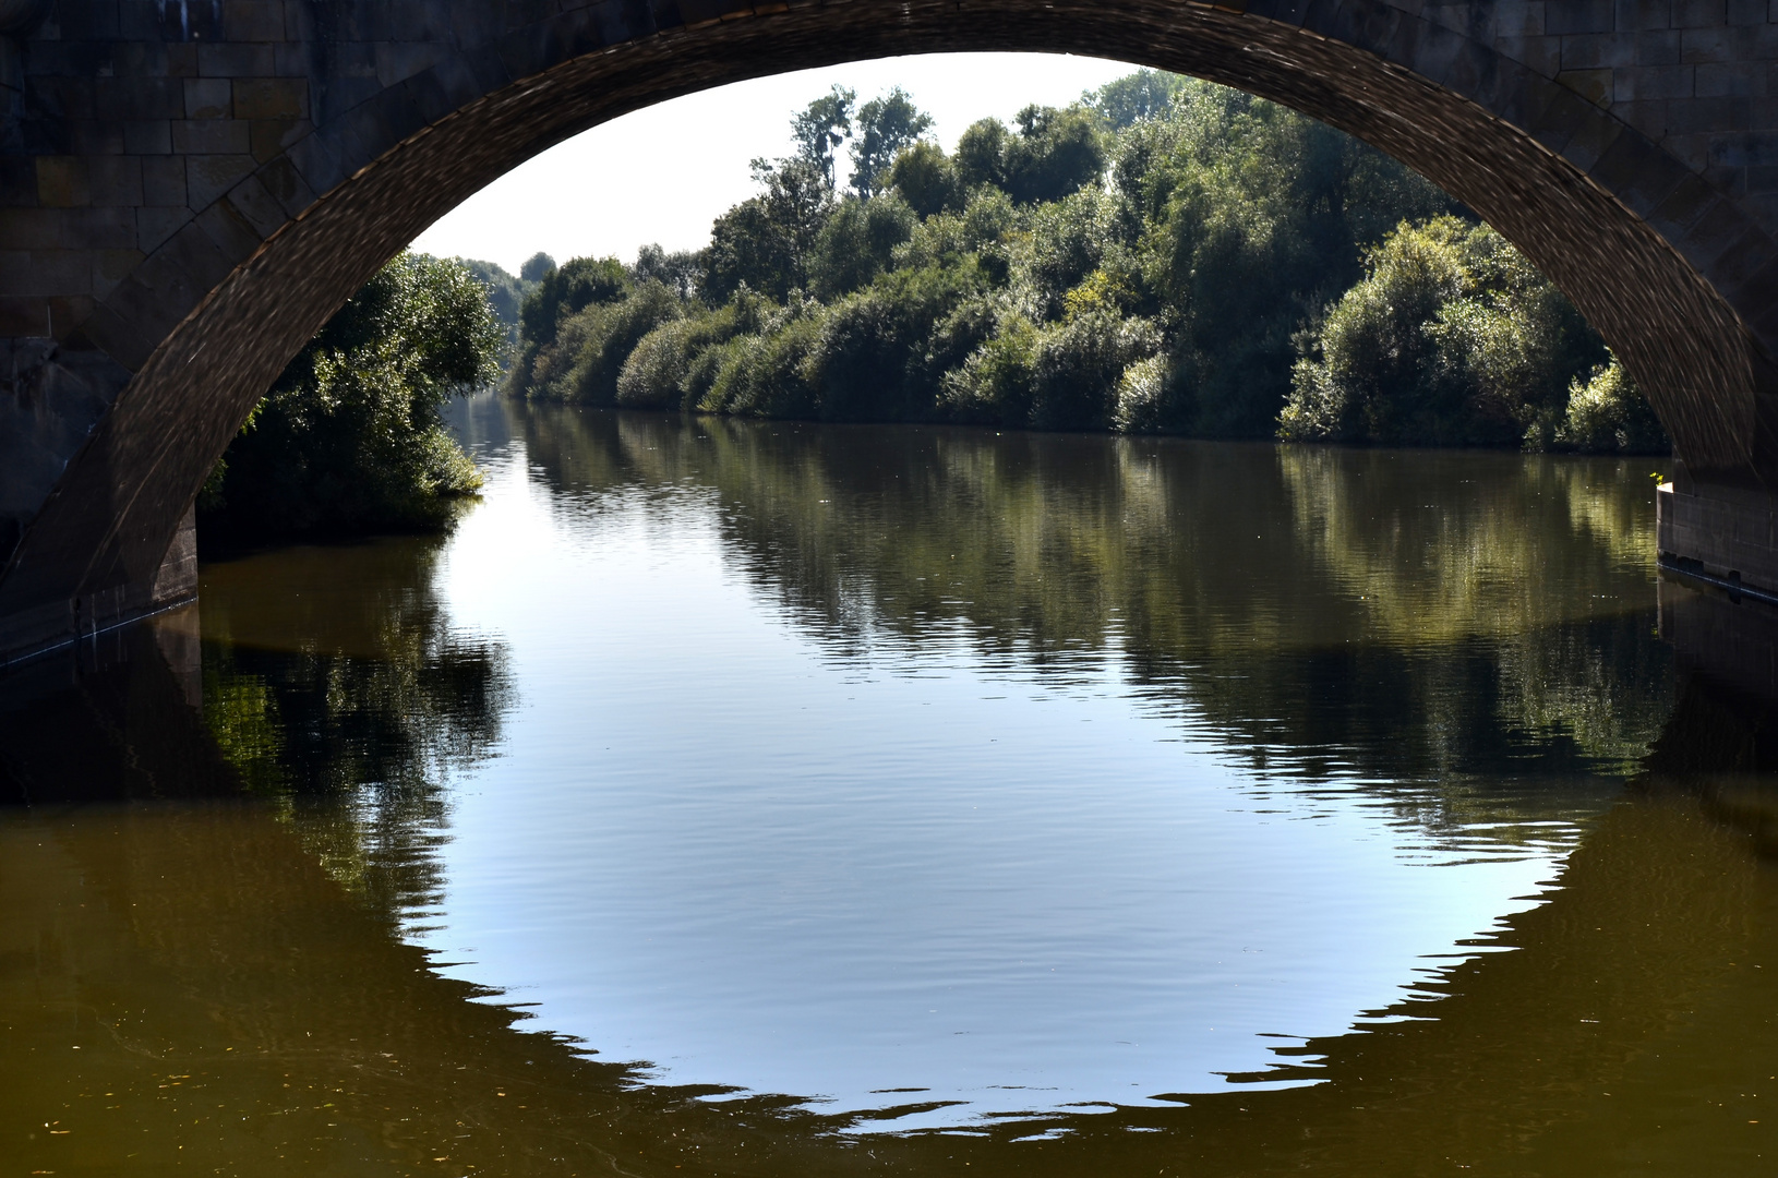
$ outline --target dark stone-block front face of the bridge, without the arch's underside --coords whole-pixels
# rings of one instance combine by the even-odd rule
[[[759,30],[757,62],[686,53],[697,68],[672,73],[670,46],[741,25]],[[789,48],[761,55],[777,27]],[[1241,36],[1273,44],[1280,30],[1369,53],[1481,105],[1645,219],[1721,295],[1746,336],[1719,348],[1735,350],[1725,364],[1753,373],[1723,405],[1652,389],[1657,407],[1689,462],[1769,494],[1778,410],[1760,373],[1778,341],[1778,0],[0,0],[0,659],[103,624],[92,601],[126,617],[190,592],[158,556],[107,549],[69,570],[78,545],[37,537],[62,528],[52,506],[80,480],[101,483],[82,494],[108,496],[119,528],[139,526],[137,471],[156,458],[137,444],[126,462],[124,442],[105,437],[119,403],[268,240],[404,140],[631,46],[669,46],[651,84],[661,98],[759,73],[766,57],[772,68],[843,59],[836,44],[1124,46],[1157,66],[1209,62],[1173,27],[1221,37],[1230,57]],[[1145,50],[1168,41],[1186,48],[1168,60]],[[1198,73],[1245,76],[1214,62]],[[1334,85],[1310,78],[1303,92],[1323,84]],[[1316,101],[1300,105],[1339,121],[1339,103]],[[590,121],[551,123],[526,151]],[[304,302],[290,314],[313,330],[331,311]],[[176,416],[142,416],[169,448],[178,441]],[[196,482],[142,537],[98,544],[165,549],[194,492]],[[107,560],[112,572],[94,572]]]

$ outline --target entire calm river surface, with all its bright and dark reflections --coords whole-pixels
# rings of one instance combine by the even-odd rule
[[[459,426],[0,681],[0,1174],[1771,1171],[1648,460]]]

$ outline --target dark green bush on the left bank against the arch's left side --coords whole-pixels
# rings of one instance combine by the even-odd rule
[[[480,474],[439,419],[498,375],[501,327],[457,261],[402,254],[284,368],[199,497],[236,537],[428,529]]]

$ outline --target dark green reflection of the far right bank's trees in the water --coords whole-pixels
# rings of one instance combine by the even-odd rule
[[[949,629],[1058,684],[1115,665],[1271,769],[1456,805],[1620,775],[1671,707],[1638,464],[585,412],[526,435],[574,503],[715,489],[733,558],[839,657]]]

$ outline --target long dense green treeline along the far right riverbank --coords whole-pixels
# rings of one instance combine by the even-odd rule
[[[946,155],[907,94],[834,87],[709,245],[469,263],[507,389],[823,421],[1664,450],[1511,245],[1389,156],[1138,71]],[[839,181],[839,151],[852,169]]]

